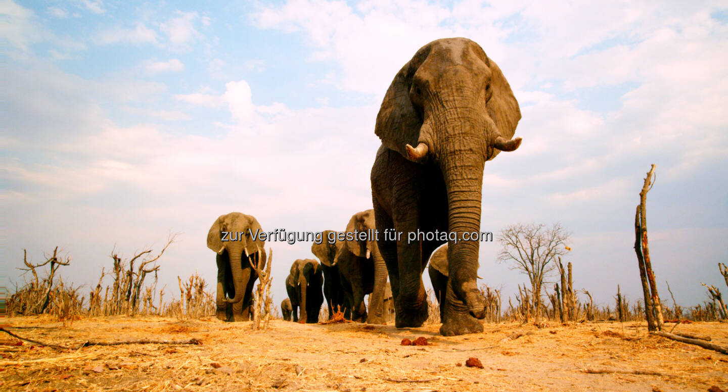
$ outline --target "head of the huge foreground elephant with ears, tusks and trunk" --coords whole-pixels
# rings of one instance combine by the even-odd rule
[[[484,164],[499,151],[521,145],[521,137],[511,139],[520,119],[498,65],[464,38],[438,39],[420,48],[395,76],[376,118],[382,145],[440,168],[448,231],[458,236],[448,249],[450,279],[455,295],[477,319],[485,315],[475,281],[479,244],[461,240],[462,233],[480,231]]]

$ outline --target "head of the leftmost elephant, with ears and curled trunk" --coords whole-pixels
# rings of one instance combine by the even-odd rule
[[[242,300],[248,280],[255,274],[256,265],[261,269],[265,267],[265,241],[257,238],[257,233],[261,231],[261,225],[255,217],[231,212],[220,215],[207,233],[207,247],[218,255],[227,252],[229,257],[235,296],[226,299],[228,303]],[[248,266],[251,268],[247,268]]]

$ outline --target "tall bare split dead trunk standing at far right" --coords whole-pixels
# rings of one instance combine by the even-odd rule
[[[654,272],[652,271],[652,263],[649,260],[649,247],[647,244],[647,192],[654,185],[654,164],[647,172],[644,179],[644,185],[639,193],[640,203],[637,206],[635,214],[635,252],[639,264],[640,279],[642,281],[642,291],[644,294],[645,315],[647,318],[647,329],[650,331],[662,330],[662,306],[660,305],[660,295],[657,294],[657,284],[654,282]],[[648,288],[649,283],[649,288]]]

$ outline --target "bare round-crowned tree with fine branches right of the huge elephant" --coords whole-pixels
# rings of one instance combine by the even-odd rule
[[[544,277],[555,268],[556,257],[566,254],[569,233],[559,223],[551,227],[516,224],[503,229],[498,239],[503,245],[498,260],[513,262],[512,269],[529,276],[531,308],[538,321]]]

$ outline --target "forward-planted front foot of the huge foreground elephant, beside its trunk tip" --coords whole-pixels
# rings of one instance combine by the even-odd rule
[[[479,319],[485,318],[485,308],[475,284],[462,285],[460,291],[466,297],[466,300],[463,301],[455,295],[454,289],[451,287],[452,283],[452,279],[448,281],[444,321],[440,327],[440,335],[455,336],[483,332],[483,324]]]

